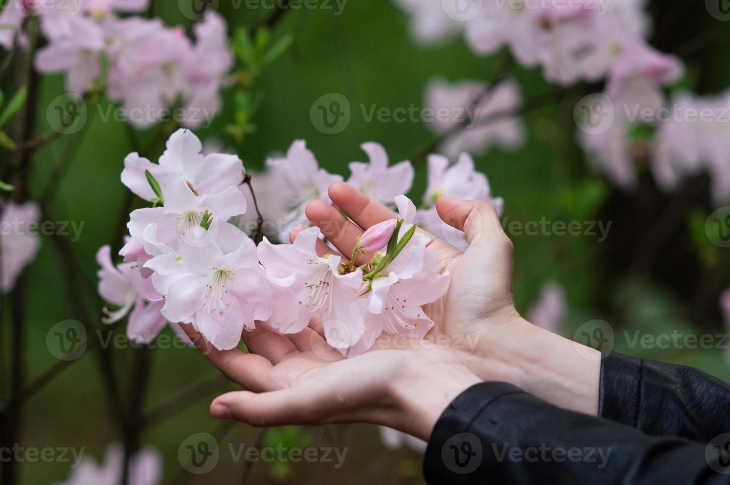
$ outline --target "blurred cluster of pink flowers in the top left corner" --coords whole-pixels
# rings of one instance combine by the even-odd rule
[[[23,19],[38,15],[48,44],[38,51],[35,67],[46,74],[65,73],[69,92],[81,96],[106,77],[107,96],[139,128],[173,113],[191,128],[210,123],[234,60],[226,23],[218,15],[207,17],[194,26],[196,40],[191,42],[183,28],[169,28],[160,19],[117,15],[142,12],[149,3],[10,0],[0,12],[0,24],[12,28],[0,30],[0,45],[10,47],[16,34],[18,42],[25,42]]]

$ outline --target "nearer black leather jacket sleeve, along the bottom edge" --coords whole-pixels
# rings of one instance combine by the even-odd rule
[[[429,484],[727,484],[729,444],[650,436],[483,382],[444,411],[423,471]]]

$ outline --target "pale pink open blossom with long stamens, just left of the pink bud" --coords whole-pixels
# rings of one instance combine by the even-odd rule
[[[363,272],[341,274],[342,257],[319,257],[318,228],[296,236],[293,244],[274,245],[264,238],[258,260],[274,286],[269,325],[281,333],[299,333],[321,314],[328,344],[346,349],[364,333],[364,309],[358,300]]]

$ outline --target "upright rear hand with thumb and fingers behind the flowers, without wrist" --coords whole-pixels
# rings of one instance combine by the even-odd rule
[[[397,217],[390,209],[343,182],[330,187],[332,201],[350,220],[321,201],[310,203],[307,217],[343,255],[352,254],[356,236],[377,222]],[[448,271],[451,283],[447,294],[423,309],[434,320],[432,332],[455,337],[486,331],[515,316],[512,300],[512,242],[494,209],[486,202],[464,205],[453,198],[439,198],[437,209],[442,220],[463,229],[472,241],[465,252],[431,236],[429,249],[439,257],[442,272]],[[323,251],[326,249],[323,248]]]

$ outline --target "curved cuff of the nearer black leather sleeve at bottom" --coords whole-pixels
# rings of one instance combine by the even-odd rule
[[[513,419],[507,416],[509,406],[496,408],[502,397],[526,395],[521,389],[506,382],[480,382],[458,395],[439,418],[431,433],[423,460],[423,476],[429,484],[483,484],[483,447],[477,435],[470,432],[472,424],[488,409],[489,422]],[[504,414],[505,416],[502,416]],[[504,417],[504,419],[502,419]]]

